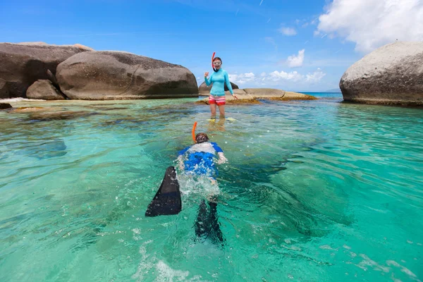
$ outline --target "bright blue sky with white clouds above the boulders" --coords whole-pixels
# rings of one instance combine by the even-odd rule
[[[188,68],[213,52],[240,88],[338,89],[384,44],[423,41],[423,0],[0,0],[0,42],[82,44]]]

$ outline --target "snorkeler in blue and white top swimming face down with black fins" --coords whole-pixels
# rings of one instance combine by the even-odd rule
[[[192,131],[194,132],[195,129]],[[226,157],[223,150],[215,142],[209,142],[206,133],[195,136],[196,143],[186,147],[178,154],[178,163],[181,171],[192,176],[207,176],[212,184],[216,184],[216,164],[223,164]],[[215,164],[216,163],[216,164]],[[209,239],[215,244],[224,242],[223,234],[216,216],[216,195],[209,195],[207,202],[210,210],[207,211],[205,200],[202,200],[195,222],[195,235],[199,239]],[[145,216],[159,216],[178,214],[181,207],[179,183],[173,166],[166,170],[163,182],[147,207]]]

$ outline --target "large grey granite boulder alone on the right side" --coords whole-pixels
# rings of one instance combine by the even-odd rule
[[[423,104],[423,42],[396,42],[350,66],[339,87],[345,101]]]

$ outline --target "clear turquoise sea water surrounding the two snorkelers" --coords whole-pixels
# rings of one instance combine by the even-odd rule
[[[320,97],[216,122],[195,99],[11,102],[44,109],[0,111],[0,281],[421,281],[422,110]],[[180,174],[183,211],[146,218],[194,121],[219,188]],[[223,247],[194,240],[216,189]]]

